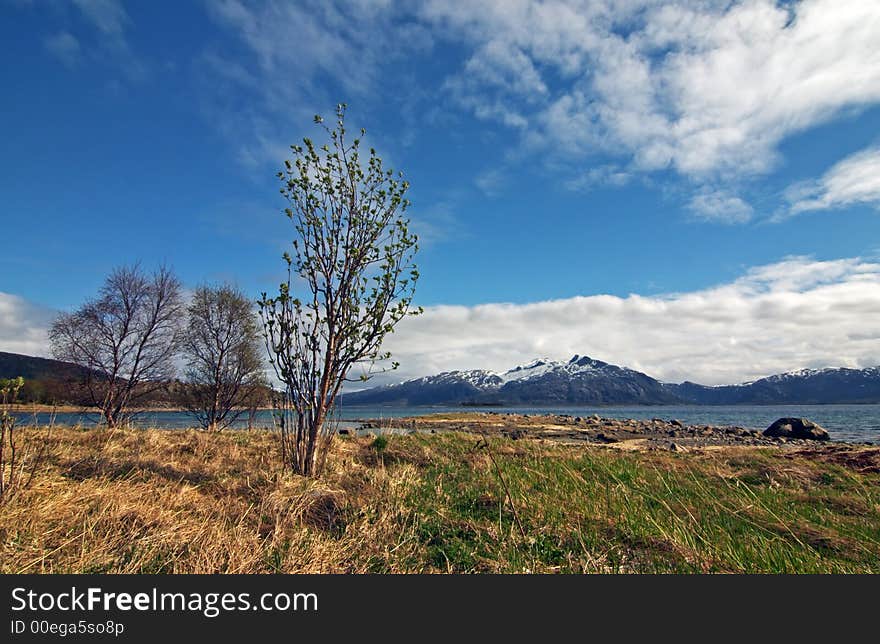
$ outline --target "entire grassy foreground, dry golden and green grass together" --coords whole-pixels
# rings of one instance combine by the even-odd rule
[[[54,428],[45,453],[0,572],[880,572],[880,474],[820,452],[351,437],[317,481],[261,431]]]

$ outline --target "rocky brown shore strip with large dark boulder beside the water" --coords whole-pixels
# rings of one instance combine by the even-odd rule
[[[619,449],[687,451],[724,446],[839,447],[820,427],[802,419],[780,419],[770,434],[736,426],[688,425],[676,419],[602,418],[599,415],[511,414],[477,412],[434,414],[394,419],[365,419],[360,431],[397,429],[419,432],[456,431],[570,444],[607,445]],[[792,429],[794,424],[794,429]],[[815,428],[815,429],[813,429]],[[811,435],[812,438],[799,438]]]

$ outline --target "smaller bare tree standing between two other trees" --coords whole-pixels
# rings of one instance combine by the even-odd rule
[[[252,302],[223,285],[196,289],[182,343],[186,407],[209,431],[228,427],[265,387],[262,346]]]

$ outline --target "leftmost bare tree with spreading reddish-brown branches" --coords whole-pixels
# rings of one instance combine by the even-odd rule
[[[183,304],[166,267],[115,269],[98,297],[61,314],[49,330],[58,360],[86,369],[85,388],[108,427],[126,424],[130,407],[174,376]]]

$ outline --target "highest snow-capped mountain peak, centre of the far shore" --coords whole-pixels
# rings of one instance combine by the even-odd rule
[[[447,371],[345,394],[342,404],[365,405],[660,405],[681,399],[643,373],[574,356],[535,360],[504,373]]]

